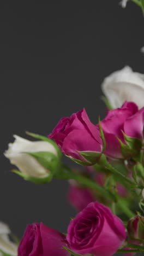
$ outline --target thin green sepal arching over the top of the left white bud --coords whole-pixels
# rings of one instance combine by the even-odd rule
[[[50,138],[48,138],[48,137],[45,137],[45,136],[43,136],[43,135],[39,135],[39,134],[37,134],[37,133],[28,132],[28,131],[26,131],[26,134],[29,135],[29,136],[31,136],[31,137],[33,137],[33,138],[40,139],[40,141],[46,141],[46,142],[51,143],[52,146],[56,149],[56,152],[57,152],[58,157],[61,158],[62,152],[61,152],[61,150],[58,148],[57,144],[56,144],[52,139],[50,139]]]

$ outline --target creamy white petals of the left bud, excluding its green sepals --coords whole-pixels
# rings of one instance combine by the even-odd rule
[[[32,142],[17,135],[14,135],[14,138],[14,143],[9,143],[9,148],[4,153],[6,158],[10,160],[11,164],[16,165],[20,172],[26,176],[35,178],[46,177],[50,173],[50,170],[26,152],[49,152],[57,156],[57,150],[53,144],[46,141]]]

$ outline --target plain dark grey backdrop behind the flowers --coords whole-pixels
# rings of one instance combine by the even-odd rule
[[[82,107],[97,123],[105,113],[104,77],[125,65],[143,73],[141,10],[118,2],[0,3],[0,219],[19,236],[35,221],[65,232],[75,211],[66,200],[66,182],[34,185],[10,172],[3,152],[13,134],[48,135],[62,116]]]

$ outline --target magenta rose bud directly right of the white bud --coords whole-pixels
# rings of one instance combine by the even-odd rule
[[[91,123],[84,108],[62,118],[49,138],[54,139],[64,154],[74,159],[85,160],[79,151],[101,152],[99,129]]]

